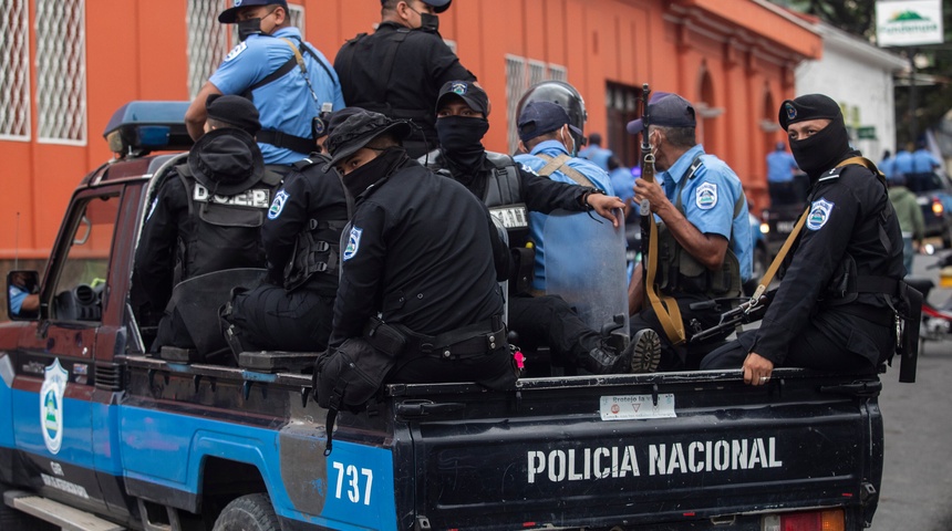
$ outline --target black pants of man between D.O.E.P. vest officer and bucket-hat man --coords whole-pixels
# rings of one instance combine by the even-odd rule
[[[231,300],[228,321],[248,348],[322,352],[328,347],[334,298],[299,289],[262,284]],[[246,344],[247,343],[247,344]]]

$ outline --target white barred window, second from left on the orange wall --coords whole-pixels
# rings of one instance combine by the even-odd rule
[[[37,0],[35,25],[38,139],[85,145],[85,2]]]

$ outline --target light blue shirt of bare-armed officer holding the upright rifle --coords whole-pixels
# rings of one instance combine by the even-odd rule
[[[658,178],[668,200],[676,205],[677,185],[691,170],[691,163],[699,155],[702,164],[684,185],[681,210],[702,233],[727,238],[731,250],[741,263],[741,280],[746,282],[753,268],[754,241],[747,217],[747,198],[737,174],[720,158],[704,154],[704,147],[699,144],[682,155],[668,171],[658,174]],[[737,200],[741,201],[741,210],[734,216]]]

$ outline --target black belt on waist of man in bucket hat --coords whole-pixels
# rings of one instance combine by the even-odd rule
[[[435,336],[400,327],[406,334],[407,351],[439,360],[480,357],[508,345],[506,325],[500,315]]]

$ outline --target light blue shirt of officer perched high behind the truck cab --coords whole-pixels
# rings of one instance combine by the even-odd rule
[[[293,27],[282,28],[273,35],[251,35],[228,53],[208,81],[223,94],[242,94],[293,55],[291,46],[280,38],[289,39],[303,52],[301,32]],[[333,66],[314,46],[307,45],[318,55],[314,60],[311,54],[302,53],[317,101],[299,67],[256,88],[252,96],[260,113],[262,131],[280,131],[309,138],[311,121],[324,102],[333,104],[334,111],[344,107],[341,83]],[[259,146],[266,164],[292,164],[309,155],[270,144]]]

